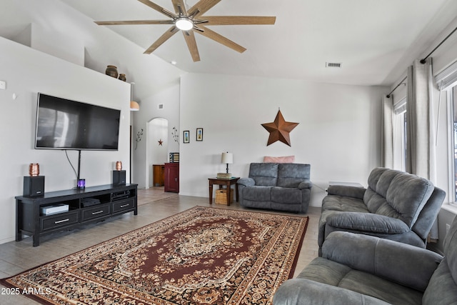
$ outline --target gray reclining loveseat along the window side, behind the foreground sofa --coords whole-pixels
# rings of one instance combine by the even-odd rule
[[[376,168],[368,188],[329,186],[318,227],[321,246],[333,231],[378,236],[426,247],[446,193],[431,181],[404,171]]]

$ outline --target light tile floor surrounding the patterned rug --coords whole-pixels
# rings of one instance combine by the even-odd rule
[[[172,216],[180,211],[190,209],[193,206],[209,206],[207,198],[178,196],[174,193],[166,193],[163,188],[139,189],[138,191],[138,215],[133,213],[124,214],[112,219],[91,224],[80,229],[62,231],[40,239],[40,246],[33,247],[31,237],[22,241],[11,241],[0,244],[0,278],[13,276],[35,266],[59,259],[76,251],[86,249],[89,246],[99,244],[102,241],[127,233],[141,226],[146,226],[154,221]],[[213,204],[216,208],[244,209],[237,202],[230,206]],[[260,210],[250,210],[260,211]],[[317,228],[321,209],[310,207],[308,229],[306,230],[303,246],[298,256],[298,262],[294,277],[298,275],[312,259],[318,255]],[[297,215],[297,214],[293,214]],[[0,304],[29,305],[39,304],[24,296],[11,296],[1,294],[4,287],[0,286]]]

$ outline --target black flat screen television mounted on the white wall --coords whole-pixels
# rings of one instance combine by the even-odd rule
[[[119,148],[121,111],[38,94],[35,149]]]

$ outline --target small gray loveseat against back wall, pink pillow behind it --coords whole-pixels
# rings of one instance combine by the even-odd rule
[[[241,206],[306,213],[311,198],[310,164],[251,163],[238,180]]]

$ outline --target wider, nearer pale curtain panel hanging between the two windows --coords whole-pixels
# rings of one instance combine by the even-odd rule
[[[408,101],[406,111],[406,171],[436,184],[436,145],[433,115],[432,60],[416,60],[408,68]],[[438,239],[435,221],[430,239]]]

